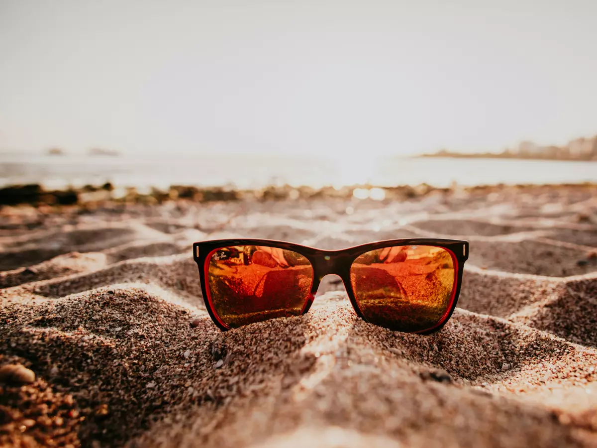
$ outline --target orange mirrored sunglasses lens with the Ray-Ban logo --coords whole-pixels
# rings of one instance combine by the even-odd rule
[[[207,274],[214,309],[230,327],[300,315],[313,284],[309,260],[277,247],[217,249]]]

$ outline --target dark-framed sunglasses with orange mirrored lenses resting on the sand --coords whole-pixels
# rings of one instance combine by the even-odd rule
[[[340,276],[368,323],[429,334],[458,300],[468,241],[409,238],[320,250],[272,240],[193,244],[205,306],[222,330],[306,314],[322,277]]]

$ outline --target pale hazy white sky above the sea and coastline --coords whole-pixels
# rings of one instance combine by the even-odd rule
[[[597,134],[597,1],[0,0],[0,149],[402,155]]]

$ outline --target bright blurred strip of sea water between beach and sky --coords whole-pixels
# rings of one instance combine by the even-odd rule
[[[0,186],[376,186],[597,182],[597,161],[454,158],[284,158],[0,154]]]

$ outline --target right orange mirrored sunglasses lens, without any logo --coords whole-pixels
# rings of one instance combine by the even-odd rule
[[[350,283],[365,319],[402,332],[429,330],[451,305],[454,261],[435,246],[393,246],[359,256]]]

